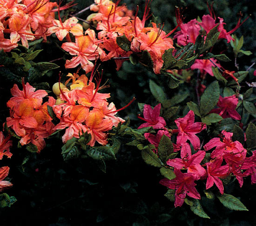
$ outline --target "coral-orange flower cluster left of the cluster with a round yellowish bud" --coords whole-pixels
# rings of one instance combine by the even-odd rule
[[[10,108],[10,117],[7,118],[7,126],[21,137],[20,144],[34,144],[40,152],[45,147],[44,138],[52,132],[54,124],[47,111],[47,105],[53,106],[55,100],[49,100],[42,104],[43,97],[48,94],[45,90],[37,90],[28,83],[22,82],[23,90],[14,84],[11,89],[13,97],[7,102]]]

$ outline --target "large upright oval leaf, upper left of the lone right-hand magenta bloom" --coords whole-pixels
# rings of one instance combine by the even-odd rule
[[[212,82],[203,92],[200,101],[200,113],[202,116],[208,114],[218,103],[220,98],[220,87],[218,81]]]

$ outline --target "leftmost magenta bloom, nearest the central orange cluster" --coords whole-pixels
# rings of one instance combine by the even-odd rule
[[[146,123],[141,124],[138,129],[152,126],[154,129],[163,129],[166,126],[166,122],[163,117],[160,117],[161,104],[158,104],[152,109],[148,104],[144,105],[143,116],[144,118],[138,116],[139,119],[146,121]]]

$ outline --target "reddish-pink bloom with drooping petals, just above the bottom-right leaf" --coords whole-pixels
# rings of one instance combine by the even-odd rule
[[[206,189],[209,189],[214,184],[219,188],[220,193],[223,194],[224,187],[220,178],[225,178],[229,174],[229,165],[222,166],[222,157],[214,161],[206,163],[207,167],[207,181]]]

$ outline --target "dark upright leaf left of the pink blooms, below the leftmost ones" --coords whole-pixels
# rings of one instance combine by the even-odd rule
[[[157,154],[160,160],[163,163],[166,163],[167,156],[169,156],[172,153],[173,153],[172,141],[170,140],[170,138],[168,138],[168,136],[163,135],[157,148]]]

